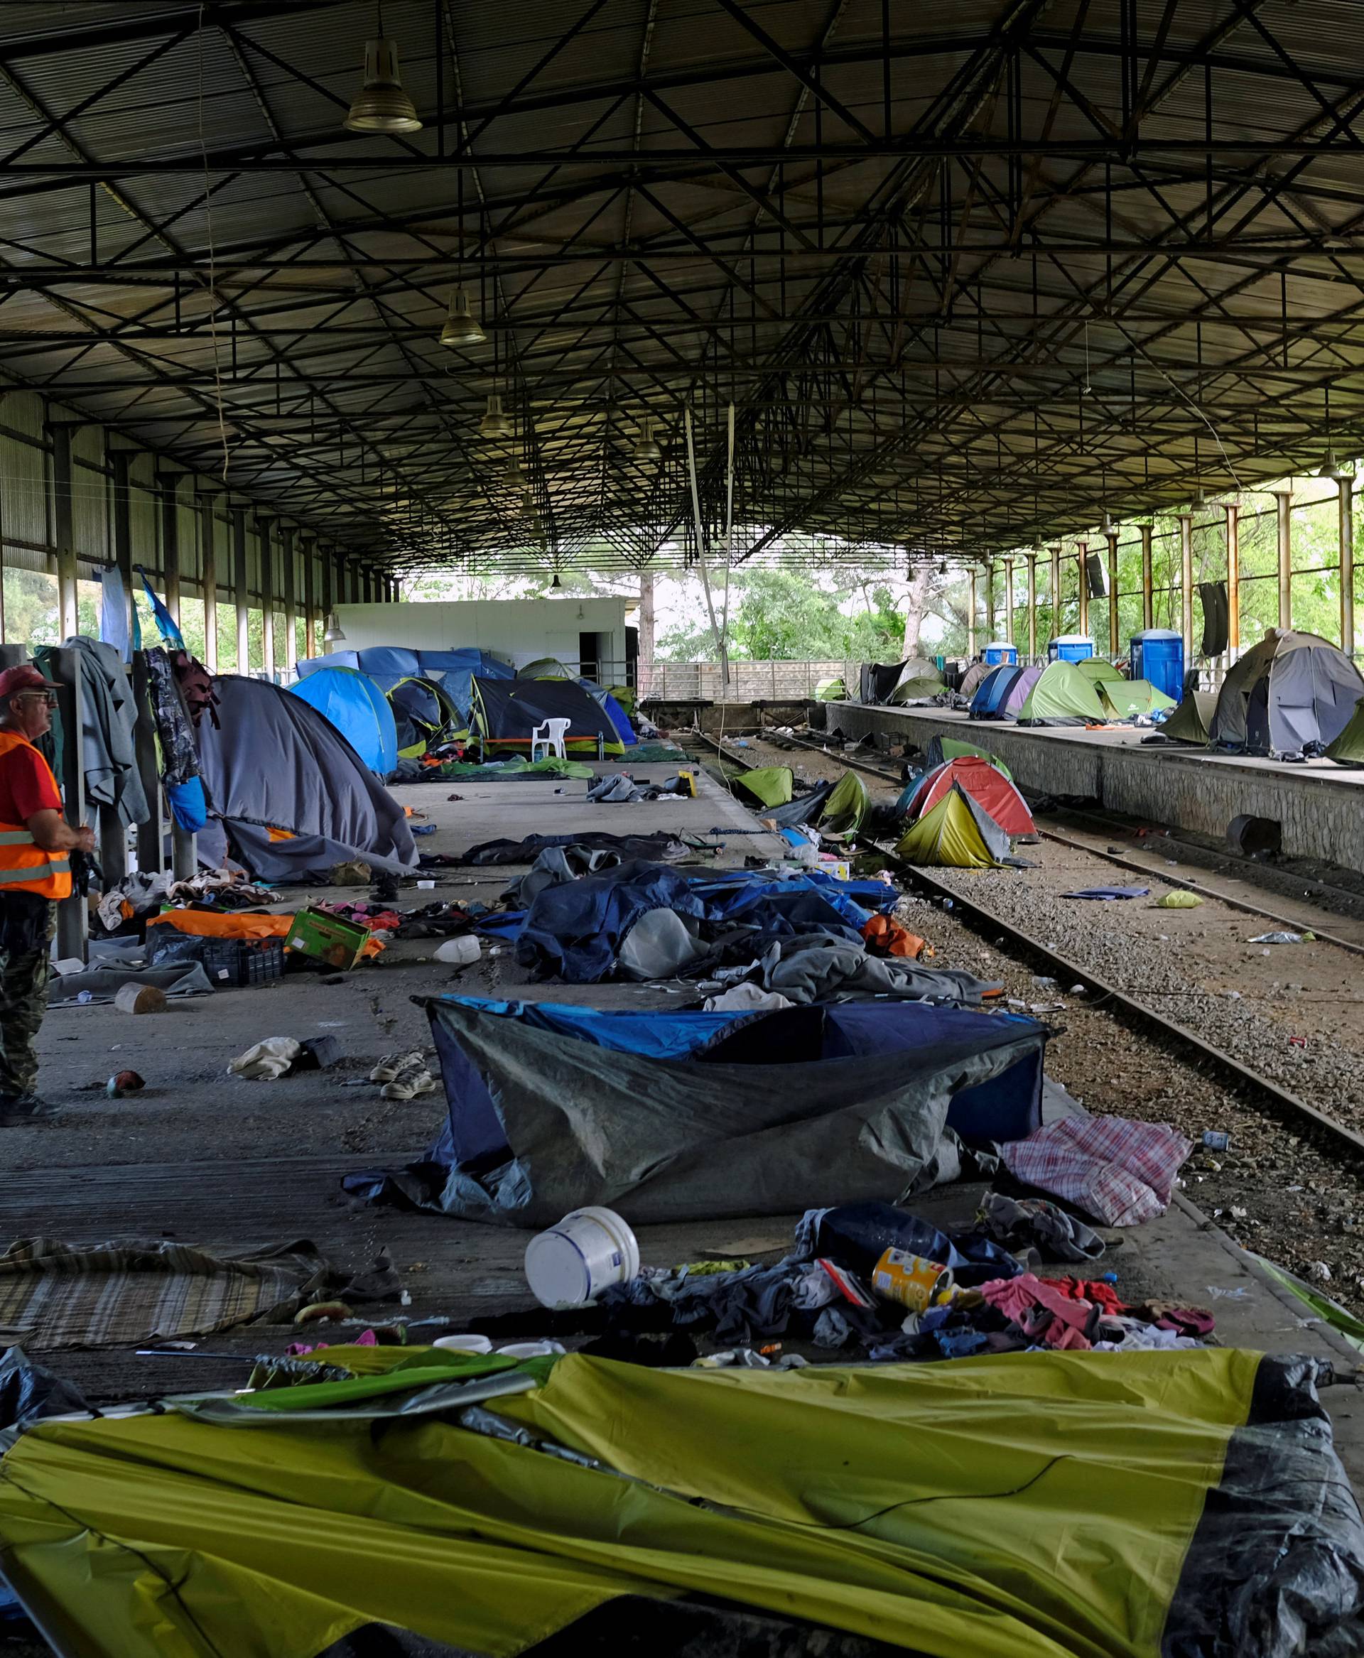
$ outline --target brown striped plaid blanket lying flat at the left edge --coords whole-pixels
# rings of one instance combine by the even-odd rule
[[[328,1277],[307,1242],[220,1257],[164,1239],[89,1248],[20,1239],[0,1255],[0,1341],[35,1351],[121,1346],[287,1323]]]

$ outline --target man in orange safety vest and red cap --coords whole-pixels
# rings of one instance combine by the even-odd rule
[[[33,1043],[48,1008],[56,904],[71,894],[75,851],[94,834],[61,816],[51,766],[33,746],[51,726],[56,686],[36,668],[0,673],[0,1127],[50,1117]]]

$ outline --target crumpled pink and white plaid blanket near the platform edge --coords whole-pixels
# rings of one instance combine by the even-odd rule
[[[1056,1192],[1110,1227],[1135,1227],[1170,1207],[1193,1144],[1168,1122],[1061,1117],[999,1147],[1009,1174]]]

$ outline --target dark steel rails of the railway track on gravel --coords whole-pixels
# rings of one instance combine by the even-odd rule
[[[747,756],[738,754],[728,743],[719,743],[716,738],[706,733],[698,733],[701,739],[709,744],[724,761],[731,764],[746,764]],[[801,744],[797,744],[801,746]],[[804,746],[815,748],[814,743],[805,743]],[[860,769],[877,769],[863,766]],[[898,778],[895,779],[898,783]],[[1081,846],[1074,841],[1066,841],[1064,836],[1052,834],[1051,839],[1061,841],[1064,844],[1074,846],[1084,852],[1094,852],[1092,847]],[[1243,1064],[1233,1054],[1225,1053],[1221,1048],[1213,1046],[1205,1041],[1197,1031],[1192,1031],[1187,1025],[1178,1020],[1170,1018],[1168,1013],[1160,1008],[1154,1008],[1142,1001],[1139,996],[1130,995],[1119,985],[1097,975],[1092,968],[1086,967],[1082,962],[1074,962],[1061,952],[1051,948],[1041,938],[1033,933],[1024,932],[1014,922],[999,915],[988,904],[981,904],[978,899],[963,895],[956,887],[948,885],[936,875],[930,874],[926,869],[917,864],[907,864],[893,849],[893,846],[872,841],[870,842],[877,852],[887,861],[887,864],[895,869],[907,887],[923,892],[928,897],[940,900],[950,900],[953,914],[965,920],[975,932],[988,938],[991,943],[998,938],[1006,938],[1014,945],[1016,952],[1034,963],[1047,967],[1052,975],[1066,983],[1084,985],[1096,998],[1100,998],[1104,1005],[1119,1013],[1129,1025],[1135,1025],[1168,1046],[1183,1050],[1185,1054],[1192,1056],[1198,1064],[1210,1066],[1213,1071],[1220,1073],[1225,1083],[1245,1091],[1256,1101],[1260,1101],[1270,1113],[1281,1121],[1293,1122],[1296,1126],[1309,1126],[1318,1131],[1323,1137],[1329,1139],[1339,1151],[1347,1152],[1351,1157],[1364,1161],[1364,1136],[1347,1127],[1344,1122],[1336,1121],[1324,1111],[1309,1104],[1306,1099],[1299,1098],[1288,1088],[1281,1088],[1278,1083],[1263,1076],[1260,1071],[1251,1069]],[[1094,854],[1104,856],[1104,854]],[[1119,862],[1119,859],[1112,859]],[[1129,865],[1139,867],[1139,865]],[[1140,870],[1142,874],[1150,874],[1150,870]],[[1167,877],[1162,874],[1162,880]],[[1187,882],[1172,882],[1177,885],[1188,885]],[[1233,902],[1221,892],[1210,892],[1210,897],[1220,902]],[[1276,919],[1268,910],[1255,909],[1241,900],[1235,900],[1238,909],[1250,910],[1250,914],[1266,915]],[[1318,935],[1324,937],[1324,935]],[[1339,943],[1342,948],[1359,952],[1357,945],[1347,940],[1331,940]]]

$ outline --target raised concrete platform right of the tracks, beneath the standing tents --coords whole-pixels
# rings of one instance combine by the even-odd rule
[[[1216,837],[1233,817],[1251,812],[1279,824],[1288,856],[1364,872],[1364,769],[1144,746],[1152,731],[1137,726],[1024,728],[943,708],[822,706],[825,730],[845,738],[885,734],[917,748],[935,734],[978,743],[1008,764],[1024,794],[1099,801],[1130,817]]]

